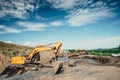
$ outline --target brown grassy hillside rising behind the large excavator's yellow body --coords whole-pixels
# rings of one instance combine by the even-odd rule
[[[8,57],[28,54],[33,48],[0,41],[0,54]]]

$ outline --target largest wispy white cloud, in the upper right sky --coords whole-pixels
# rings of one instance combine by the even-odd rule
[[[109,18],[114,16],[115,14],[110,12],[109,9],[100,9],[100,8],[94,8],[94,9],[78,9],[68,16],[66,18],[68,19],[68,24],[70,26],[84,26],[89,23],[95,23],[98,20]]]

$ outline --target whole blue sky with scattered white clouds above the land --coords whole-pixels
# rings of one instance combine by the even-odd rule
[[[63,49],[120,45],[120,0],[0,0],[0,41]]]

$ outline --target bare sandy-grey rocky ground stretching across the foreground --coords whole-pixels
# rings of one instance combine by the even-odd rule
[[[38,71],[28,71],[10,78],[2,76],[0,80],[119,80],[120,67],[99,64],[89,59],[75,60],[76,66],[69,67],[68,61],[64,61],[61,73],[54,75],[53,68],[43,67]]]

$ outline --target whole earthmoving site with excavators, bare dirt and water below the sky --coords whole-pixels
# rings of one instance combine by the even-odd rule
[[[93,55],[81,49],[70,52],[61,49],[61,42],[51,45],[53,43],[29,48],[1,42],[2,50],[3,48],[12,50],[12,48],[20,49],[21,47],[21,50],[30,49],[30,53],[26,53],[28,56],[16,53],[12,57],[0,54],[0,80],[120,79],[119,54],[110,56]]]

